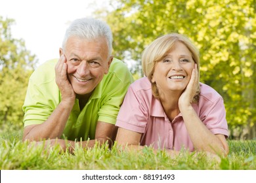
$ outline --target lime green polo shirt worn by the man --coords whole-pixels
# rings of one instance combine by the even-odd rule
[[[58,59],[45,62],[30,76],[26,99],[22,107],[24,126],[42,124],[61,101],[55,82],[54,67]],[[133,76],[125,63],[113,59],[107,75],[96,86],[85,107],[75,104],[64,129],[63,137],[69,140],[95,139],[96,122],[116,124],[117,114]]]

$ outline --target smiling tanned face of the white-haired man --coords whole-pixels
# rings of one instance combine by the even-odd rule
[[[67,59],[68,79],[78,95],[93,92],[103,76],[108,73],[112,61],[112,57],[108,58],[105,39],[87,41],[70,37],[63,53]]]

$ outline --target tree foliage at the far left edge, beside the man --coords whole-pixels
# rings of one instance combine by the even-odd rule
[[[21,123],[22,105],[35,56],[26,50],[22,39],[13,39],[14,20],[0,16],[0,125],[7,121]]]

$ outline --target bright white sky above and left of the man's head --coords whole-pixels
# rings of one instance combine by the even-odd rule
[[[93,16],[108,0],[0,0],[0,16],[12,18],[12,37],[24,39],[39,64],[58,58],[58,49],[69,23]]]

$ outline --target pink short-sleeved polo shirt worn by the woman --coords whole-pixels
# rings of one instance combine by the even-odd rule
[[[192,104],[200,120],[213,134],[228,137],[228,125],[223,98],[213,88],[200,83],[198,103]],[[152,95],[148,78],[140,78],[131,84],[119,110],[116,125],[142,133],[140,145],[154,148],[194,151],[194,146],[181,113],[172,122],[167,118],[158,99]],[[202,139],[203,140],[203,139]]]

